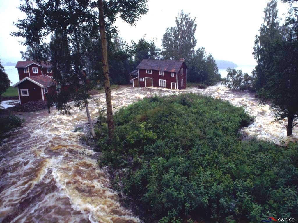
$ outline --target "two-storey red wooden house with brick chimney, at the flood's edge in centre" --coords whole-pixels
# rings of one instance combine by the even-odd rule
[[[184,59],[143,59],[136,69],[138,76],[132,79],[133,87],[186,88],[187,66]]]

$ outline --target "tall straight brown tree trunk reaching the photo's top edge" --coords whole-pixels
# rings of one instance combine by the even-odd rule
[[[105,100],[107,104],[107,120],[108,120],[108,131],[109,140],[114,137],[114,121],[113,121],[113,108],[111,98],[111,84],[109,77],[109,66],[108,66],[108,48],[107,39],[105,34],[105,21],[103,16],[103,0],[97,0],[98,12],[99,12],[99,25],[100,25],[100,38],[101,47],[103,51],[103,75],[105,78]]]

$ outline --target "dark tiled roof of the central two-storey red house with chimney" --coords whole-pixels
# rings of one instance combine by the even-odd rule
[[[184,61],[143,59],[136,69],[161,70],[178,73]]]

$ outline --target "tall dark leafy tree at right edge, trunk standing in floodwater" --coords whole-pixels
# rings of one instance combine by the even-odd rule
[[[290,1],[290,3],[293,1]],[[265,24],[256,36],[254,87],[262,103],[270,100],[277,120],[288,118],[287,136],[298,118],[298,13],[289,7],[286,22],[280,25],[277,0],[265,9]]]

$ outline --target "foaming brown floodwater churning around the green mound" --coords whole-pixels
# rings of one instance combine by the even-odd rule
[[[176,91],[120,87],[112,92],[114,110],[150,95],[200,93],[244,106],[255,121],[241,131],[248,137],[279,142],[286,135],[285,121],[274,122],[269,106],[259,107],[249,92],[232,91],[220,84],[207,89]],[[91,116],[105,103],[104,94],[90,102]],[[24,127],[0,149],[0,222],[139,222],[121,207],[104,169],[97,166],[92,148],[80,143],[88,131],[85,110],[72,116],[55,109],[24,113]],[[84,131],[75,131],[82,127]],[[298,140],[295,127],[290,139]]]

